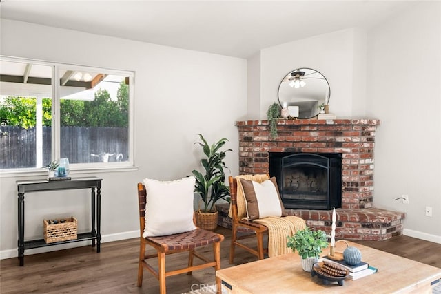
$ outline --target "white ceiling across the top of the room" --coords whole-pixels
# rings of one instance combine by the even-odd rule
[[[2,19],[247,58],[308,36],[371,28],[418,1],[0,0]]]

